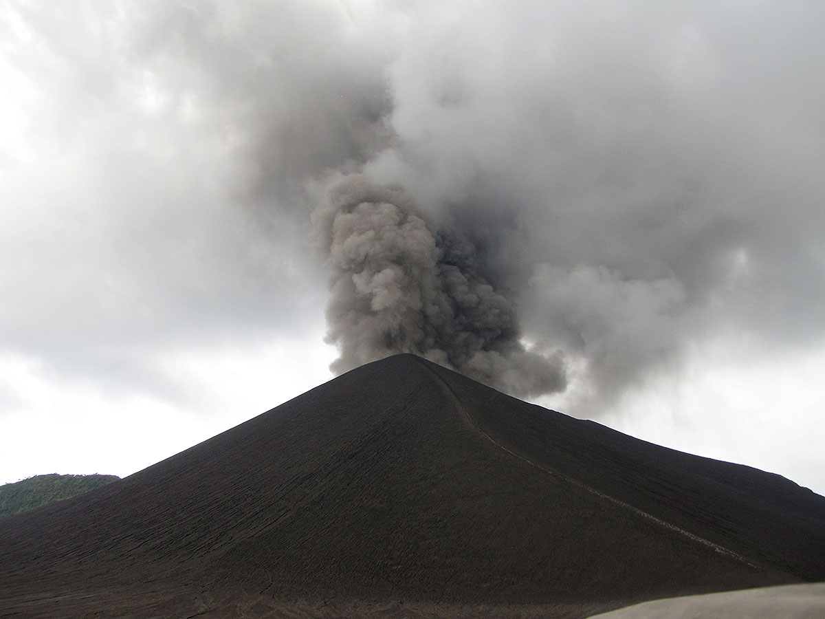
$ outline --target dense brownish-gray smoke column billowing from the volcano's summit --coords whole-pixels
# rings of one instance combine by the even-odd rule
[[[474,248],[402,188],[347,177],[314,223],[332,271],[332,371],[413,352],[518,397],[563,390],[561,359],[526,350],[515,308],[479,274]]]

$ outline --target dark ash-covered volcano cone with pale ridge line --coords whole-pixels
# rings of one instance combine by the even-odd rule
[[[0,519],[6,617],[588,617],[825,580],[825,498],[413,355]]]

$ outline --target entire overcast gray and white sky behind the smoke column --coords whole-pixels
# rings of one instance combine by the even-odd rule
[[[555,368],[535,401],[825,493],[823,26],[802,0],[3,2],[0,482],[129,475],[330,379],[350,276],[314,226],[361,174],[471,248]]]

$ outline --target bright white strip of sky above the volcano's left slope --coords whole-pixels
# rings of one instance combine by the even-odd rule
[[[45,473],[131,475],[331,378],[334,350],[313,337],[158,352],[172,395],[55,380],[42,364],[0,359],[0,483]]]

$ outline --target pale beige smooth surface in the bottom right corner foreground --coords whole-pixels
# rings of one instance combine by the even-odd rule
[[[789,584],[643,602],[592,619],[823,619],[825,583]]]

